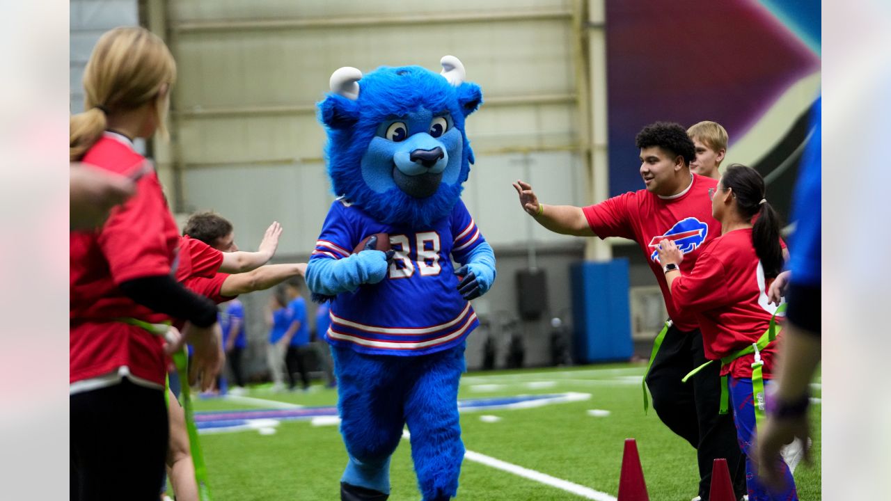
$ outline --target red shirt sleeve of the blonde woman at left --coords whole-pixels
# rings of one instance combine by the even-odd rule
[[[154,173],[140,179],[130,200],[111,210],[97,242],[116,284],[170,273],[176,223]]]

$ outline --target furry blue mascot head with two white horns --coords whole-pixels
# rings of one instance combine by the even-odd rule
[[[341,68],[319,103],[334,193],[381,222],[421,226],[445,217],[470,173],[464,119],[482,94],[464,82],[458,58],[441,64],[439,75],[420,66],[367,75]]]

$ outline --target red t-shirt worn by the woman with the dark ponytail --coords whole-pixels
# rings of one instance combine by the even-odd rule
[[[777,308],[767,303],[771,282],[755,254],[751,228],[740,229],[704,245],[692,272],[674,279],[672,296],[679,307],[694,312],[706,357],[716,360],[758,341],[767,330]],[[765,378],[771,375],[780,337],[761,352]],[[750,378],[754,360],[754,354],[737,358],[721,374]]]

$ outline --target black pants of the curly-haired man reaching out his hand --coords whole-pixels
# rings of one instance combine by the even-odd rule
[[[683,332],[672,325],[647,374],[653,408],[662,423],[690,442],[699,460],[699,496],[708,499],[712,465],[727,460],[737,497],[746,494],[745,460],[736,439],[733,415],[718,414],[721,365],[715,362],[681,382],[684,375],[707,361],[699,330]]]

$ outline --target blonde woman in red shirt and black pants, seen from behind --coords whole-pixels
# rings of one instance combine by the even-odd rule
[[[165,132],[175,79],[159,37],[112,29],[86,64],[86,111],[70,119],[71,161],[137,180],[102,227],[70,234],[71,499],[157,501],[168,447],[163,324],[189,321],[192,382],[200,375],[208,388],[224,359],[217,308],[174,279],[176,224],[133,145]]]

